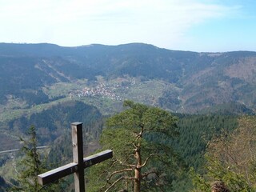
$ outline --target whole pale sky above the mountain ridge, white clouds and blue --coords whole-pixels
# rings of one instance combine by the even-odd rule
[[[256,51],[254,0],[0,0],[0,42]]]

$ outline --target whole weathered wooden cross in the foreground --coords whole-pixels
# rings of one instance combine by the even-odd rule
[[[44,174],[38,175],[39,184],[46,185],[54,182],[66,175],[74,174],[74,189],[75,192],[85,192],[84,169],[93,166],[98,162],[103,162],[106,159],[113,157],[112,150],[104,150],[98,154],[83,158],[82,144],[82,122],[74,122],[72,127],[72,142],[73,142],[73,162],[60,166],[57,169],[50,170]]]

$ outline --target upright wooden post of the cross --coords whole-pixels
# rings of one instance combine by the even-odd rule
[[[83,169],[83,142],[82,142],[82,122],[74,122],[72,127],[73,158],[78,163],[78,171],[74,173],[75,192],[85,192],[85,178]]]

